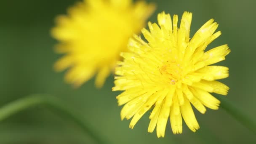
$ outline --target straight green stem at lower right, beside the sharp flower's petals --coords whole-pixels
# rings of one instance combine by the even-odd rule
[[[229,115],[232,115],[237,121],[242,125],[247,127],[253,133],[256,134],[256,121],[253,120],[249,115],[240,110],[235,104],[228,101],[227,98],[218,96],[218,99],[221,101],[220,107],[224,109]]]

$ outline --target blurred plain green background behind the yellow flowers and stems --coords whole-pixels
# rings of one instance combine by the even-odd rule
[[[208,19],[219,23],[222,35],[213,44],[228,44],[231,53],[221,65],[230,68],[222,80],[229,85],[229,101],[256,120],[255,115],[255,0],[152,0],[157,13],[182,15],[193,13],[191,35]],[[112,92],[113,75],[101,89],[90,80],[78,89],[64,83],[64,72],[53,71],[60,55],[53,52],[56,41],[50,36],[54,18],[75,0],[1,0],[0,1],[0,105],[32,93],[46,93],[63,99],[87,120],[99,136],[112,144],[255,144],[256,136],[223,109],[208,109],[205,115],[195,111],[200,129],[196,133],[186,125],[183,134],[173,135],[168,122],[165,138],[147,133],[149,113],[135,128],[130,120],[120,120],[120,109]],[[47,107],[36,106],[0,123],[0,144],[85,144],[93,143],[69,118],[60,117]]]

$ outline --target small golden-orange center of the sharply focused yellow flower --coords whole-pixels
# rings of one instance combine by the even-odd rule
[[[168,83],[175,85],[182,77],[183,68],[176,61],[166,61],[159,71]]]

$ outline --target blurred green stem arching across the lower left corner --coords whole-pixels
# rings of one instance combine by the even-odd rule
[[[79,125],[85,133],[87,133],[91,138],[98,144],[104,144],[105,142],[102,141],[90,127],[88,123],[85,122],[85,120],[81,119],[80,116],[78,116],[75,113],[75,110],[71,109],[70,107],[67,107],[68,104],[65,104],[60,99],[49,96],[49,95],[32,95],[27,96],[21,99],[18,99],[16,101],[13,101],[9,104],[6,104],[5,106],[0,108],[0,121],[5,120],[11,115],[14,115],[17,112],[20,112],[24,109],[27,109],[29,107],[33,107],[35,105],[46,105],[50,107],[53,110],[57,110],[58,112],[63,113],[66,117],[69,117],[72,119],[77,125]]]

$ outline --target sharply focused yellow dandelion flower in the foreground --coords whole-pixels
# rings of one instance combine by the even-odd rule
[[[156,127],[157,137],[165,136],[170,117],[174,134],[182,133],[182,117],[190,130],[199,129],[191,104],[202,114],[206,108],[218,109],[220,101],[210,93],[227,95],[229,87],[216,80],[229,76],[228,68],[209,66],[225,59],[230,52],[221,45],[205,52],[209,43],[221,32],[213,19],[207,21],[190,39],[192,13],[184,12],[180,27],[178,16],[158,14],[158,26],[149,22],[149,30],[141,32],[148,43],[135,35],[128,43],[131,52],[123,52],[124,61],[118,62],[113,91],[124,91],[117,96],[124,105],[121,119],[130,119],[130,128],[149,109],[148,132]]]

